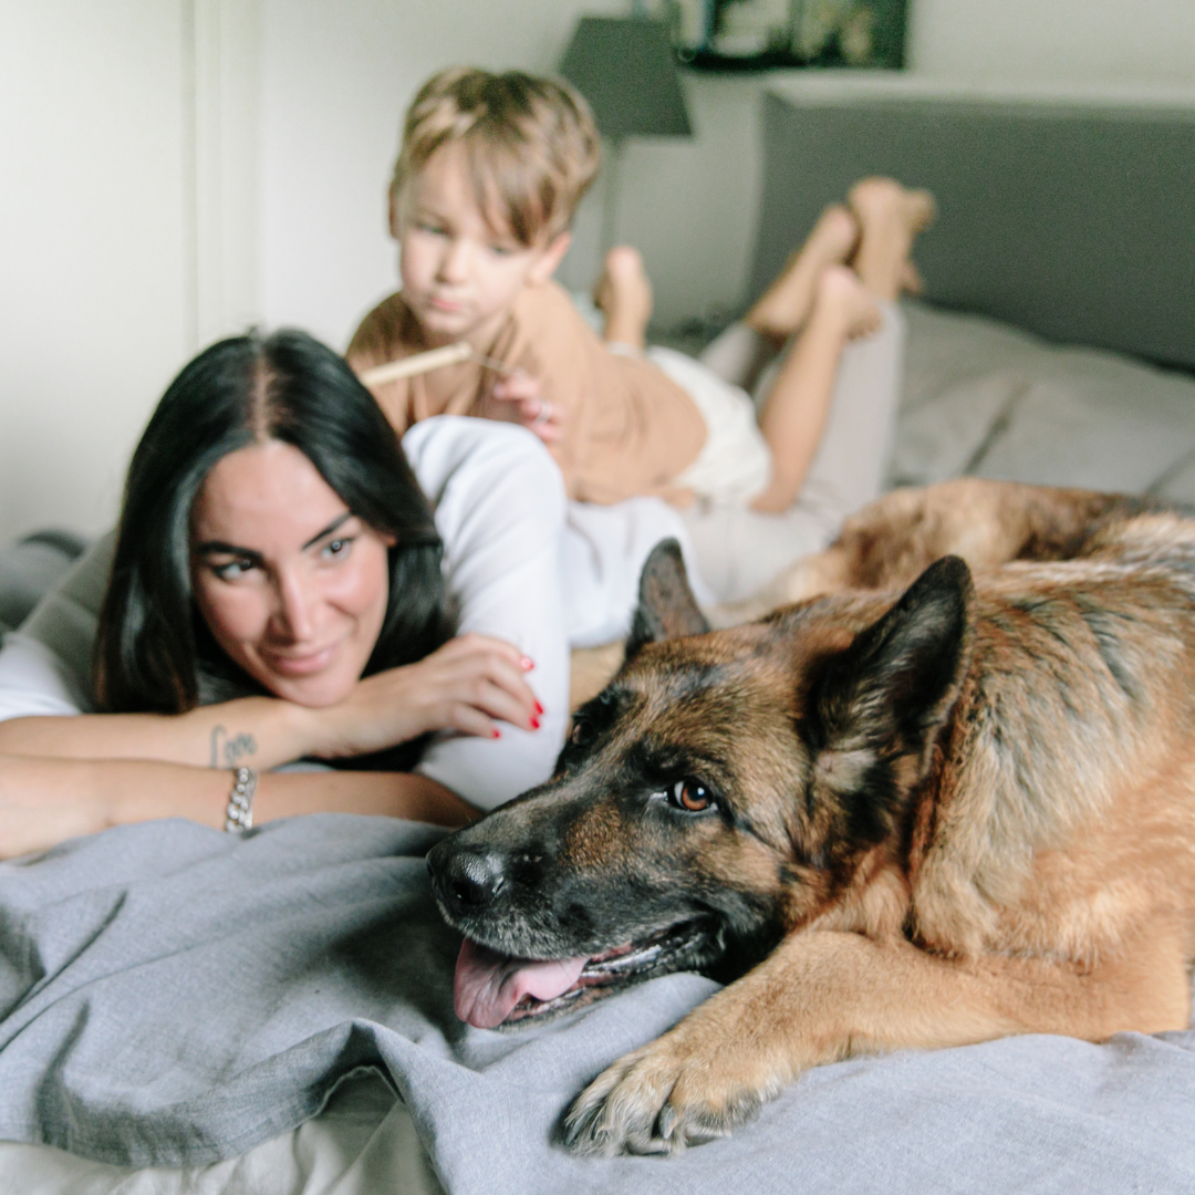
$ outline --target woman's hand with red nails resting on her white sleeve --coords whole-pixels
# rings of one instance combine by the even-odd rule
[[[449,639],[418,663],[358,681],[339,705],[308,711],[330,730],[315,754],[364,755],[434,730],[498,739],[498,721],[538,730],[544,707],[525,679],[533,667],[501,639]]]

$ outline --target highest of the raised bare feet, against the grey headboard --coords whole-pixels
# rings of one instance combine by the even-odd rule
[[[854,270],[878,299],[896,299],[920,289],[911,251],[917,234],[933,220],[937,206],[929,191],[911,191],[891,178],[865,178],[847,195],[862,235]]]

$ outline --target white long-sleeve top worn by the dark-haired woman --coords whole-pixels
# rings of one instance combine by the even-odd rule
[[[505,639],[535,662],[527,680],[545,711],[539,730],[439,739],[417,768],[492,809],[551,774],[569,723],[570,646],[626,632],[648,553],[669,535],[685,545],[685,528],[655,498],[566,502],[547,451],[511,424],[437,416],[411,428],[403,451],[435,510],[460,632]],[[100,539],[7,637],[0,721],[92,712],[91,655],[114,543],[115,534]]]

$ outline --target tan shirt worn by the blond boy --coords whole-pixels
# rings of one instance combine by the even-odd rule
[[[348,360],[358,373],[430,345],[402,294],[361,321]],[[705,422],[688,394],[651,362],[611,353],[554,282],[527,287],[488,355],[539,379],[541,397],[564,415],[564,441],[551,446],[569,497],[619,502],[664,494],[705,442]],[[433,415],[510,418],[490,397],[498,379],[476,362],[378,386],[374,394],[402,435]]]

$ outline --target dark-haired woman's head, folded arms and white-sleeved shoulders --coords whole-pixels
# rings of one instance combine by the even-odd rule
[[[630,554],[625,527],[606,539],[637,575],[660,535],[635,514]],[[148,817],[237,825],[246,801],[258,822],[460,825],[539,783],[580,637],[564,529],[559,472],[528,433],[445,417],[400,448],[311,337],[214,345],[134,455],[98,631],[103,547],[0,651],[0,853]],[[593,553],[564,556],[576,572]],[[608,553],[590,568],[574,582],[592,600],[612,592]],[[270,771],[312,758],[367,770]]]

